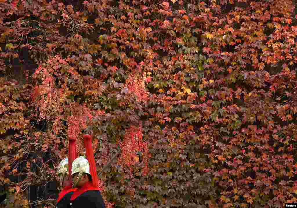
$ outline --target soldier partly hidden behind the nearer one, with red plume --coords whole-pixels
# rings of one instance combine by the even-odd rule
[[[56,208],[63,208],[69,205],[70,197],[77,188],[72,187],[71,166],[73,160],[76,158],[75,137],[69,138],[68,158],[64,158],[59,164],[57,175],[62,191],[59,193]]]

